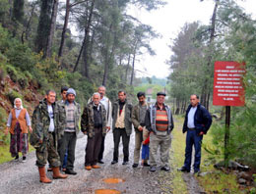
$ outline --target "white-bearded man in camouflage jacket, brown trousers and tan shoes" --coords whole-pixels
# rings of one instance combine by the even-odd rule
[[[85,107],[81,130],[88,134],[88,142],[86,148],[85,169],[100,169],[96,165],[98,153],[100,151],[102,136],[106,133],[106,111],[104,106],[99,102],[100,94],[94,93],[93,102]]]

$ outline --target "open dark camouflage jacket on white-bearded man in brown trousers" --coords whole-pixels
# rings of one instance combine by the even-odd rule
[[[106,133],[106,110],[104,106],[99,103],[102,117],[102,133],[105,135]],[[87,132],[89,137],[95,136],[95,121],[94,121],[94,104],[91,102],[88,104],[83,112],[82,120],[81,120],[81,130],[82,132]]]

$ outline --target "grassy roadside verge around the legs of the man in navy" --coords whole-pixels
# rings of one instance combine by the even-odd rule
[[[186,194],[187,186],[182,178],[182,172],[177,171],[177,168],[182,167],[184,163],[184,151],[185,151],[185,138],[186,134],[183,134],[181,129],[184,119],[181,117],[175,117],[175,128],[172,135],[173,140],[171,143],[171,167],[173,169],[173,182],[172,189],[174,194]],[[208,147],[214,147],[212,143],[212,136],[210,133],[204,136],[203,144]],[[205,189],[206,193],[244,193],[239,189],[239,184],[236,182],[236,176],[233,173],[224,173],[222,170],[216,170],[214,165],[211,164],[213,155],[208,153],[202,147],[202,159],[201,170],[211,171],[205,176],[195,176],[200,185]]]

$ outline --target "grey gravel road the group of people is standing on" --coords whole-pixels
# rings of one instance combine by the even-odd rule
[[[0,193],[96,193],[97,189],[114,189],[120,193],[131,194],[157,194],[171,192],[171,173],[161,171],[149,171],[149,168],[139,166],[133,169],[134,133],[130,139],[130,162],[122,165],[122,146],[119,148],[119,164],[110,165],[113,152],[112,133],[105,138],[105,162],[99,170],[85,170],[85,147],[87,136],[80,133],[76,146],[75,170],[77,175],[69,175],[67,179],[54,179],[51,184],[39,182],[39,174],[35,167],[34,152],[28,155],[26,163],[11,161],[0,165]],[[52,177],[51,172],[47,172]],[[105,183],[105,178],[121,178],[120,183]],[[189,192],[191,193],[191,192]],[[194,192],[196,193],[196,192]]]

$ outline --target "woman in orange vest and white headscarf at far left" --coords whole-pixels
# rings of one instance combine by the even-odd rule
[[[14,109],[9,114],[6,134],[11,133],[10,152],[16,161],[19,161],[19,152],[23,154],[23,162],[26,162],[26,155],[29,151],[28,126],[32,132],[30,116],[23,108],[22,99],[14,100]]]

